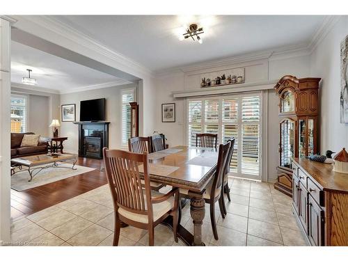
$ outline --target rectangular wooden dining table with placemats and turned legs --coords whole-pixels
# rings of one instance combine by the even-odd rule
[[[179,224],[178,237],[187,245],[205,246],[202,241],[202,224],[205,216],[203,193],[216,170],[218,151],[216,148],[176,146],[150,153],[148,159],[150,181],[189,191],[193,235]],[[169,171],[161,171],[166,168]],[[168,216],[164,224],[173,228],[173,218]]]

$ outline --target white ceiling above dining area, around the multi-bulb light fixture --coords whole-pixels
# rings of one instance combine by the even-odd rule
[[[251,52],[308,44],[324,16],[63,15],[72,26],[150,70],[161,71]],[[206,31],[203,44],[178,40],[183,25]]]

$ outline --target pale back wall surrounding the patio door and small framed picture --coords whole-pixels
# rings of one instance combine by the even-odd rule
[[[186,144],[186,102],[184,99],[174,99],[172,91],[197,88],[200,86],[200,77],[209,72],[218,72],[228,70],[229,68],[244,67],[246,82],[262,82],[278,80],[285,74],[292,74],[296,77],[308,77],[309,56],[299,56],[286,59],[262,59],[259,61],[249,61],[246,63],[214,66],[201,70],[190,72],[175,72],[166,74],[155,79],[155,130],[164,133],[171,146]],[[193,78],[193,79],[190,79]],[[268,171],[263,173],[262,179],[274,181],[278,176],[276,166],[278,166],[278,143],[279,143],[279,118],[278,118],[278,96],[274,90],[267,91],[268,100],[268,134],[262,136],[262,142],[267,144],[268,148]],[[161,104],[175,102],[176,122],[161,122]]]

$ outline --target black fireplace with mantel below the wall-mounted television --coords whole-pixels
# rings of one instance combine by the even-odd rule
[[[110,122],[74,122],[79,125],[79,157],[102,159],[109,146]]]

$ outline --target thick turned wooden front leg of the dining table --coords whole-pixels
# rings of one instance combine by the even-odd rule
[[[205,216],[205,200],[203,195],[196,195],[191,198],[190,210],[193,219],[193,245],[205,246],[202,242],[202,224]]]

